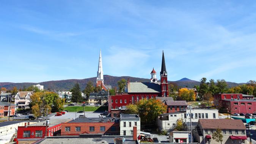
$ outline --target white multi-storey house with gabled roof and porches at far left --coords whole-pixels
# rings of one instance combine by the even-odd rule
[[[17,108],[29,108],[31,103],[30,96],[33,95],[33,91],[19,91],[15,95],[15,104]]]

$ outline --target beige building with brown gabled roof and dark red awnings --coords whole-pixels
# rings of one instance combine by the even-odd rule
[[[221,129],[223,144],[247,144],[246,128],[240,119],[199,119],[193,133],[194,142],[219,144],[212,139],[217,128]]]

